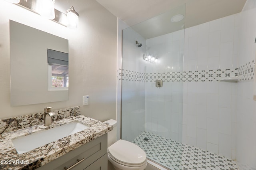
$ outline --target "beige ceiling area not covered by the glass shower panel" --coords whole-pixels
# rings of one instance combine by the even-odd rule
[[[128,26],[186,4],[185,28],[241,12],[246,0],[96,0]]]

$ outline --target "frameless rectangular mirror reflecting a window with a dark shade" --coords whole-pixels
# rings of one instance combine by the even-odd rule
[[[10,72],[11,106],[68,100],[68,40],[10,20]]]

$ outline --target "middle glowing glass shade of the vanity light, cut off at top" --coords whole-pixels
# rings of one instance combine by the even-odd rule
[[[38,14],[44,18],[53,20],[55,18],[54,0],[38,0]]]

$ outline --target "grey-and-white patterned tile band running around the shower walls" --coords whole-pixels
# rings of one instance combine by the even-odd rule
[[[137,71],[118,69],[118,80],[152,82],[163,80],[167,82],[204,82],[218,81],[218,77],[236,77],[241,81],[252,80],[254,78],[254,60],[236,69],[211,69],[201,71],[183,71],[167,73],[141,73]]]

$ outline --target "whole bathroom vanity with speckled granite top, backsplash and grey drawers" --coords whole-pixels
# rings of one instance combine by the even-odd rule
[[[80,115],[79,108],[55,111],[58,114],[53,117],[50,126],[43,125],[43,113],[0,120],[0,169],[64,170],[72,167],[72,170],[107,169],[107,133],[112,130],[112,126]],[[12,142],[17,138],[41,134],[74,122],[79,122],[88,128],[40,147],[22,151],[23,153]],[[40,138],[40,135],[36,138]],[[42,137],[40,140],[44,141],[46,138],[48,137]],[[51,138],[50,134],[49,138]],[[35,142],[31,145],[33,143]]]

